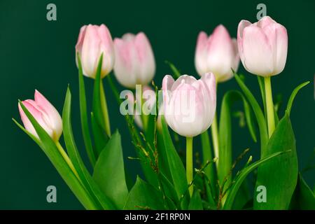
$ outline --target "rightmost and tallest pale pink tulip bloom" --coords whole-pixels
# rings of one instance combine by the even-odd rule
[[[251,24],[239,22],[239,55],[245,69],[258,76],[274,76],[286,65],[288,34],[286,27],[265,16]]]

